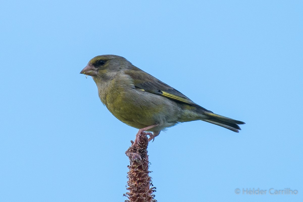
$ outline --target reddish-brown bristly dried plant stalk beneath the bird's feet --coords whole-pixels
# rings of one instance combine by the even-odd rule
[[[128,166],[128,187],[129,192],[124,194],[128,197],[125,202],[156,202],[153,194],[156,187],[151,184],[151,177],[149,177],[150,171],[148,171],[148,155],[147,146],[148,138],[145,133],[139,131],[136,134],[136,139],[132,142],[132,146],[125,152],[128,156],[130,165]]]

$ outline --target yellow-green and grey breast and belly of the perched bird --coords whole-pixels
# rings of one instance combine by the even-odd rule
[[[178,108],[171,100],[134,88],[133,85],[113,82],[99,97],[108,110],[120,121],[135,128],[153,124],[177,123]],[[166,125],[165,125],[166,126]]]

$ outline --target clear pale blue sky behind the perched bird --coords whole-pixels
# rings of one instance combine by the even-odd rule
[[[2,2],[0,201],[127,199],[125,151],[137,129],[118,121],[92,78],[79,74],[103,54],[246,122],[240,133],[202,121],[161,132],[148,146],[158,201],[302,201],[302,7]],[[268,193],[287,188],[298,194]]]

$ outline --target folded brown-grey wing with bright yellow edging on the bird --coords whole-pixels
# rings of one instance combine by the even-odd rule
[[[131,76],[134,80],[136,88],[140,88],[149,93],[158,94],[166,98],[170,98],[175,101],[179,101],[185,104],[189,104],[201,109],[204,109],[208,112],[211,112],[200,105],[194,103],[186,97],[181,92],[177,91],[175,88],[163,83],[159,79],[153,77],[152,75],[146,73],[145,71],[133,66],[132,69],[125,70],[125,74]]]

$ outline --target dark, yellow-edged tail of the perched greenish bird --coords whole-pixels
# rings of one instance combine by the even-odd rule
[[[211,112],[204,112],[204,114],[208,115],[206,119],[202,119],[202,121],[206,121],[211,124],[215,124],[221,127],[225,127],[231,131],[234,131],[236,133],[241,130],[241,128],[238,126],[240,124],[245,124],[243,121],[238,121],[232,118],[228,118],[225,116],[221,116],[219,114],[214,114]]]

